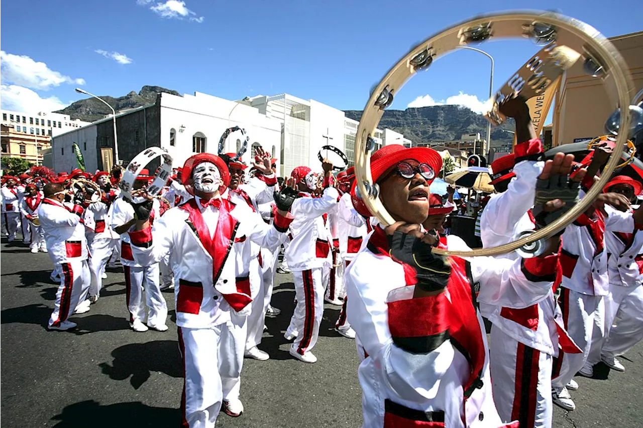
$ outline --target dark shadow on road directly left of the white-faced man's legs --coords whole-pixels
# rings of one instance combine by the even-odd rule
[[[183,377],[183,362],[177,341],[130,343],[112,351],[112,364],[98,364],[110,379],[125,380],[138,389],[150,378],[150,371],[161,371],[170,377]],[[137,417],[138,418],[138,417]]]

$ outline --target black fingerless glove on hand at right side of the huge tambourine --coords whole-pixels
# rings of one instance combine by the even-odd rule
[[[536,226],[545,227],[565,215],[579,201],[580,191],[581,183],[572,181],[569,175],[550,175],[548,179],[538,179],[532,210]],[[554,199],[560,199],[565,202],[565,205],[556,211],[543,211],[545,203]]]

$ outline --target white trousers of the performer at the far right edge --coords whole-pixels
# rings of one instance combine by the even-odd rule
[[[611,321],[602,353],[617,357],[628,352],[643,339],[643,285],[635,287],[611,287],[611,296],[606,301],[606,318]]]

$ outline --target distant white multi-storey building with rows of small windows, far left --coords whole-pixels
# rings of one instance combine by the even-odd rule
[[[0,123],[13,126],[17,132],[35,136],[57,136],[68,130],[89,125],[90,122],[71,120],[69,114],[53,112],[28,113],[0,109]]]

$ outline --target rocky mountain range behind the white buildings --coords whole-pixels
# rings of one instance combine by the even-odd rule
[[[170,93],[181,95],[177,91],[165,89],[160,86],[145,85],[136,93],[131,91],[125,96],[114,98],[101,96],[117,112],[149,105],[156,101],[157,93]],[[111,111],[102,102],[95,98],[87,98],[72,103],[57,113],[69,114],[72,119],[95,121],[111,114]],[[361,110],[347,110],[346,117],[354,120],[361,118]],[[433,105],[431,107],[410,107],[406,110],[386,110],[379,122],[379,128],[389,128],[404,134],[413,144],[428,143],[431,141],[453,141],[463,134],[480,132],[480,137],[487,135],[487,120],[466,107],[458,105]],[[511,132],[514,130],[513,120],[508,120],[498,127],[491,128],[491,147],[498,147],[513,140]]]

